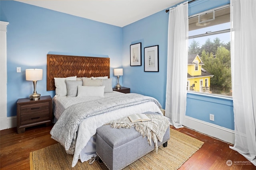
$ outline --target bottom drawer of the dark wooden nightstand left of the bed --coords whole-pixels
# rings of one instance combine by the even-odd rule
[[[40,113],[33,113],[29,115],[22,115],[20,117],[20,124],[27,125],[30,123],[36,123],[44,120],[49,120],[49,111],[44,111]]]

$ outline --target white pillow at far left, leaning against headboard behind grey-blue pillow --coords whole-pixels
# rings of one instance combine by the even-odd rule
[[[65,80],[76,80],[76,76],[66,77],[66,78],[56,78],[54,77],[55,83],[55,94],[56,96],[67,96],[67,87]]]

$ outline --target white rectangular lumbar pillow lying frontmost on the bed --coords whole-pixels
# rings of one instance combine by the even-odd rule
[[[104,97],[105,86],[78,86],[78,97]]]

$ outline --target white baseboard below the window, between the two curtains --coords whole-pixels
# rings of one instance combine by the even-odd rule
[[[189,116],[185,116],[184,123],[182,125],[227,143],[235,143],[234,130],[201,121]]]

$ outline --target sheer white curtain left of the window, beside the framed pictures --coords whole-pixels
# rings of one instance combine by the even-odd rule
[[[188,74],[188,2],[170,8],[166,84],[166,116],[171,125],[183,127]]]

